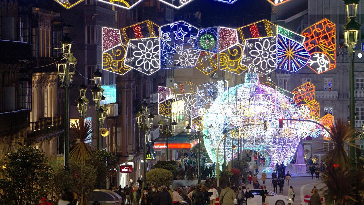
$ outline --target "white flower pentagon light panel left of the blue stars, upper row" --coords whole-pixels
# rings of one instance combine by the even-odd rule
[[[159,38],[129,40],[124,65],[151,75],[159,70]]]

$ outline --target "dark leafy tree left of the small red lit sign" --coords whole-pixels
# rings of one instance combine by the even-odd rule
[[[114,169],[118,168],[118,160],[114,152],[96,150],[90,159],[90,165],[94,166],[97,172],[95,188],[106,189],[106,178],[111,182]]]

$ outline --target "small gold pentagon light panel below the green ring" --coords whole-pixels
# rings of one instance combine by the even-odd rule
[[[206,51],[201,51],[195,67],[205,75],[209,75],[219,69],[218,55]]]

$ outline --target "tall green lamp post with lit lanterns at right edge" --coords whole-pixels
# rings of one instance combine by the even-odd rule
[[[346,5],[347,12],[347,20],[343,26],[344,29],[344,43],[348,46],[349,49],[349,59],[350,59],[350,67],[349,67],[349,84],[350,84],[350,103],[349,103],[349,112],[350,112],[350,124],[355,128],[355,98],[354,98],[354,58],[355,58],[355,45],[357,43],[358,34],[360,30],[360,23],[357,22],[356,14],[357,8],[359,4],[359,0],[344,0]],[[352,142],[354,143],[354,142]],[[349,157],[350,159],[355,159],[355,148],[349,146]]]

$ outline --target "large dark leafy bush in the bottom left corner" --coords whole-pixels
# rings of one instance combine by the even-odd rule
[[[24,146],[9,152],[7,158],[3,162],[6,179],[0,182],[0,189],[7,193],[4,204],[38,204],[50,190],[52,169],[47,155],[34,147]]]

